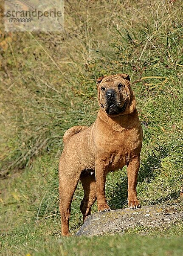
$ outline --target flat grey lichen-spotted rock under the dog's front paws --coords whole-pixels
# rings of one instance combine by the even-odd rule
[[[97,212],[87,217],[76,236],[96,236],[105,233],[121,233],[128,227],[159,227],[183,220],[183,210],[169,205],[143,206],[139,209],[118,209]]]

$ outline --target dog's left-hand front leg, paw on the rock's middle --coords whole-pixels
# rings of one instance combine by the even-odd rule
[[[105,182],[107,176],[107,164],[105,161],[96,160],[96,198],[98,212],[110,211],[110,207],[107,205],[107,200],[105,197]]]

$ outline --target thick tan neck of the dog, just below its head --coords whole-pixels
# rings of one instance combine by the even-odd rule
[[[101,119],[102,122],[105,122],[106,125],[111,126],[115,131],[124,131],[132,129],[135,126],[138,121],[138,112],[135,108],[132,113],[119,116],[108,116],[100,108],[97,118]]]

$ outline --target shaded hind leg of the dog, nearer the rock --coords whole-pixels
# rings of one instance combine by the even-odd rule
[[[80,180],[82,182],[82,186],[84,189],[84,198],[81,201],[81,212],[83,215],[83,221],[85,218],[91,214],[91,207],[96,201],[96,179],[95,174],[92,175],[86,175],[80,177]]]

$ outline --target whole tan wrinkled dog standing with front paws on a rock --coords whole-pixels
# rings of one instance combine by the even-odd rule
[[[97,199],[98,211],[109,211],[105,197],[107,172],[127,165],[128,206],[140,207],[136,184],[140,166],[142,128],[127,74],[97,79],[99,112],[90,127],[65,132],[59,161],[59,197],[62,235],[69,235],[70,205],[79,179],[84,189],[83,220]]]

